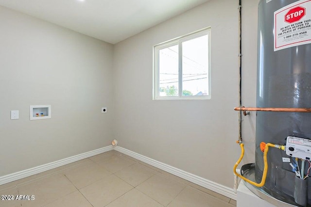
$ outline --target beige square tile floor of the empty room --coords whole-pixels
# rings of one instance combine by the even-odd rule
[[[116,151],[0,186],[0,207],[234,207],[236,201]],[[35,199],[15,200],[16,195]]]

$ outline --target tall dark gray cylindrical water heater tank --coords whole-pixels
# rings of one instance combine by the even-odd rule
[[[311,0],[259,1],[257,77],[257,107],[311,108]],[[258,111],[256,120],[255,179],[260,182],[264,167],[260,143],[285,145],[288,136],[310,140],[311,113]],[[296,175],[289,159],[282,158],[292,160],[282,150],[269,150],[262,189],[297,205]],[[305,196],[311,206],[311,178],[306,179]]]

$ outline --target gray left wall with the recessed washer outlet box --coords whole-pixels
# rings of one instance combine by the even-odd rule
[[[113,45],[4,7],[0,31],[0,176],[109,145]],[[30,121],[42,104],[52,119]]]

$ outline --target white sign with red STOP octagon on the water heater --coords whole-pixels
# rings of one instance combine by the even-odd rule
[[[274,12],[274,51],[311,43],[311,0],[298,0]]]

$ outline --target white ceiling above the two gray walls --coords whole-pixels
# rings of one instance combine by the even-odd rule
[[[115,44],[208,0],[0,0],[0,5]]]

